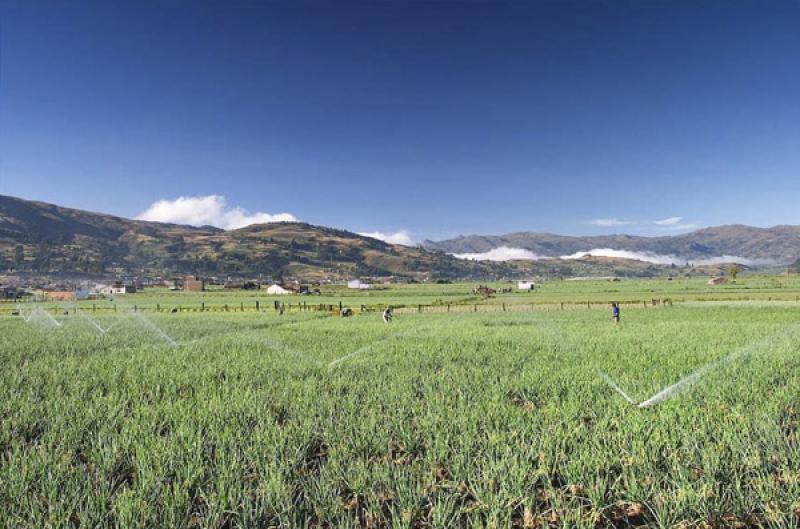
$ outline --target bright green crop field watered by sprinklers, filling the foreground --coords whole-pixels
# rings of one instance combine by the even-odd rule
[[[800,525],[797,280],[473,286],[2,312],[0,527]]]

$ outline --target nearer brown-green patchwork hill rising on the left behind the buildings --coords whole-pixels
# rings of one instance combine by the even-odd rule
[[[225,231],[130,220],[2,195],[0,266],[40,274],[303,279],[479,278],[508,268],[299,222]]]

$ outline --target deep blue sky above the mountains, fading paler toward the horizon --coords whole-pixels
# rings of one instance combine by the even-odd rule
[[[0,193],[414,240],[800,224],[798,17],[0,0]]]

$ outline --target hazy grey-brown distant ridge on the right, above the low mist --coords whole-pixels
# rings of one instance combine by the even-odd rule
[[[468,235],[423,246],[451,254],[480,254],[507,247],[521,248],[544,257],[560,257],[596,249],[676,256],[687,261],[739,261],[754,266],[786,265],[800,259],[800,226],[754,228],[718,226],[666,237],[600,235],[572,237],[550,233],[518,232],[506,235]]]

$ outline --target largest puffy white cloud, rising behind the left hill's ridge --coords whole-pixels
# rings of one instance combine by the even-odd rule
[[[257,212],[251,214],[239,206],[229,207],[225,202],[225,197],[220,195],[159,200],[153,202],[136,218],[191,226],[216,226],[226,230],[234,230],[250,224],[297,221],[297,217],[291,213],[273,215]]]

